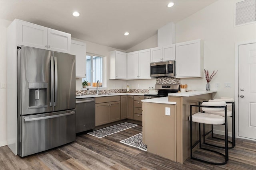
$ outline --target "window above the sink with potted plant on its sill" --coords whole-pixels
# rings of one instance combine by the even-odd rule
[[[82,78],[82,82],[86,80],[88,86],[96,87],[99,80],[99,87],[102,87],[103,82],[103,57],[96,55],[86,55],[86,78]]]

